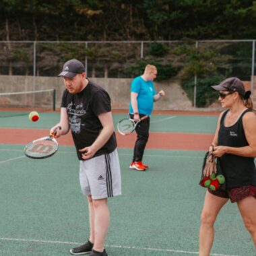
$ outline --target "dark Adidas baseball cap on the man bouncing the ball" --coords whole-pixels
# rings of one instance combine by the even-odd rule
[[[84,68],[82,62],[77,61],[77,59],[71,59],[63,65],[63,70],[59,75],[57,75],[57,77],[63,76],[72,78],[77,74],[84,73],[85,71],[86,69]]]

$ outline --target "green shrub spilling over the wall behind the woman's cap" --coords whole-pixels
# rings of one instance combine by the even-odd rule
[[[185,53],[186,65],[182,70],[182,87],[189,99],[194,102],[195,75],[197,76],[196,106],[207,107],[218,98],[211,86],[219,84],[223,79],[232,75],[233,57],[225,48],[232,44],[200,44],[197,49],[193,46],[182,47],[177,53]],[[237,74],[235,74],[237,75]]]

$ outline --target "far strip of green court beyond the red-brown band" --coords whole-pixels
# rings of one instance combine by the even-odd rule
[[[59,121],[59,113],[39,113],[40,119],[32,122],[29,112],[1,112],[0,127],[49,129]],[[113,115],[115,127],[119,120],[129,115]],[[164,133],[214,133],[218,117],[201,115],[153,115],[150,131]]]

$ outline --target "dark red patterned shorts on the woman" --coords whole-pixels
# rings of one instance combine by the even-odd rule
[[[234,189],[216,190],[208,189],[212,195],[216,197],[229,198],[231,203],[236,203],[246,197],[252,195],[256,199],[256,186],[249,185],[244,187],[236,187]]]

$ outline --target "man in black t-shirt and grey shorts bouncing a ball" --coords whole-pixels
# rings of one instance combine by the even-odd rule
[[[88,198],[90,214],[88,242],[70,253],[107,256],[104,249],[110,218],[107,198],[121,195],[110,97],[86,77],[84,65],[76,59],[67,61],[58,76],[63,77],[66,89],[61,101],[61,120],[51,133],[56,131],[59,137],[71,131],[79,159],[80,185]]]

